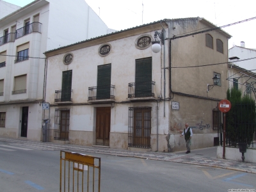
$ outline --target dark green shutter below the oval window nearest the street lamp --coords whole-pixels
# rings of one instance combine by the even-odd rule
[[[136,60],[135,97],[152,95],[152,58]]]

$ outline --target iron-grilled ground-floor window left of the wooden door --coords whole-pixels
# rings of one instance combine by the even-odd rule
[[[70,109],[55,109],[54,140],[68,141]]]

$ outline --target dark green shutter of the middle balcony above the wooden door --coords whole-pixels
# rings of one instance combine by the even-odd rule
[[[110,99],[111,64],[99,65],[97,76],[97,99]]]

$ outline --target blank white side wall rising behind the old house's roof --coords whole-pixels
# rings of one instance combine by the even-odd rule
[[[49,31],[47,50],[108,33],[108,26],[84,0],[49,0]]]

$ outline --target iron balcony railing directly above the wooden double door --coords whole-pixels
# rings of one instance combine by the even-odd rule
[[[115,99],[115,85],[90,86],[88,88],[88,100]]]

